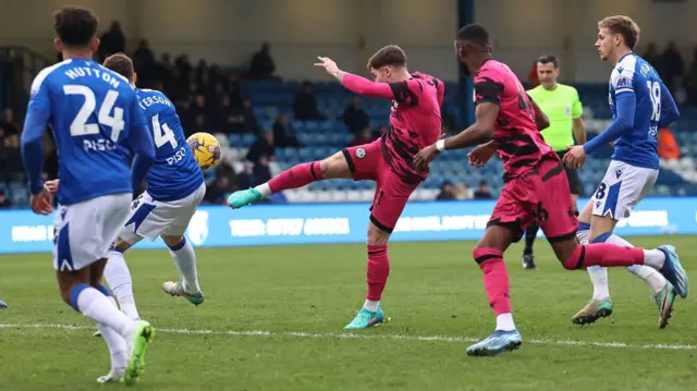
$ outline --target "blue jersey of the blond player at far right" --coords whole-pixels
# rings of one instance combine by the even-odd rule
[[[621,94],[634,94],[634,127],[614,143],[612,160],[634,167],[658,169],[658,122],[661,119],[661,90],[667,90],[658,72],[635,53],[625,54],[610,76],[610,109],[617,115],[615,101]]]

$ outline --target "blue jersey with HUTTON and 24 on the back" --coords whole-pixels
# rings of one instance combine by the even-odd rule
[[[145,117],[125,77],[69,59],[39,72],[30,94],[27,111],[46,113],[56,138],[61,204],[133,191],[129,137]]]

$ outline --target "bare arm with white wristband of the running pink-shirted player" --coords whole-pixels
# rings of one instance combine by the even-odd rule
[[[499,105],[492,102],[480,102],[475,110],[476,121],[472,126],[460,132],[457,135],[439,139],[436,144],[419,150],[414,157],[414,166],[421,171],[436,159],[436,156],[445,149],[463,149],[475,145],[485,144],[493,137],[493,125],[499,117]]]

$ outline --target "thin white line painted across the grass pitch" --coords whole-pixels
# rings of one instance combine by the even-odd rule
[[[61,323],[26,323],[10,325],[0,323],[0,329],[62,329],[62,330],[94,330],[95,327],[61,325]],[[447,335],[405,335],[405,334],[355,334],[355,333],[317,333],[305,331],[267,331],[267,330],[206,330],[206,329],[160,329],[158,332],[182,335],[235,335],[235,337],[296,337],[296,338],[319,338],[340,340],[401,340],[419,342],[477,342],[481,339],[473,337],[447,337]],[[649,350],[674,350],[693,351],[697,345],[685,344],[632,344],[624,342],[600,342],[600,341],[578,341],[578,340],[523,340],[523,343],[536,345],[565,345],[584,347],[608,347],[608,349],[649,349]]]

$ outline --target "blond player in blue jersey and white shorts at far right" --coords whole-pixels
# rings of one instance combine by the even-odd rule
[[[675,121],[680,113],[656,70],[632,51],[639,40],[639,26],[627,16],[610,16],[600,21],[598,28],[596,48],[600,59],[614,66],[610,76],[613,121],[598,137],[571,148],[564,162],[572,169],[578,168],[587,155],[615,142],[608,172],[580,213],[577,236],[582,244],[613,243],[632,247],[612,231],[653,187],[659,169],[658,129]],[[649,267],[633,265],[627,270],[651,286],[658,305],[658,326],[668,326],[676,286]],[[592,298],[572,317],[576,325],[592,323],[612,314],[608,269],[589,267],[588,274],[594,286]]]

